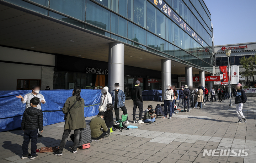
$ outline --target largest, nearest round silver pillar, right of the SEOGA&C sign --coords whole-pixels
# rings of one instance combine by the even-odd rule
[[[108,47],[108,91],[114,90],[114,84],[124,90],[124,44],[109,43]]]

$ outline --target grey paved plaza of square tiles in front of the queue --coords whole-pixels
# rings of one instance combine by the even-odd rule
[[[234,100],[232,101],[234,103]],[[155,108],[161,102],[144,101],[144,109],[150,104]],[[130,125],[137,129],[114,131],[106,139],[93,141],[86,150],[71,153],[73,142],[68,139],[63,156],[53,153],[38,153],[34,160],[21,159],[23,131],[0,133],[0,163],[255,163],[256,162],[256,97],[248,97],[243,113],[245,123],[235,123],[235,106],[229,100],[207,102],[203,109],[180,112],[172,119],[156,119],[153,124],[132,123],[133,102],[126,100]],[[144,112],[144,111],[143,111]],[[137,117],[138,117],[137,109]],[[115,116],[114,116],[115,117]],[[86,118],[90,122],[92,117]],[[138,118],[137,118],[138,120]],[[38,138],[37,148],[60,144],[64,122],[44,127],[43,137]],[[217,150],[215,155],[204,150]],[[229,156],[220,156],[220,151],[233,150]],[[242,150],[247,150],[244,156]],[[230,156],[233,155],[233,156]],[[236,156],[234,156],[236,155]]]

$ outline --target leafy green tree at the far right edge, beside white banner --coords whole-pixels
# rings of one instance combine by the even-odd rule
[[[242,58],[240,58],[239,60],[240,60],[240,64],[244,68],[244,71],[241,72],[241,77],[245,77],[247,79],[248,87],[250,85],[251,77],[253,80],[253,84],[255,84],[254,75],[256,74],[256,71],[254,71],[254,69],[256,67],[255,66],[256,56],[253,56],[253,57],[252,56],[250,56],[250,57],[242,56]]]

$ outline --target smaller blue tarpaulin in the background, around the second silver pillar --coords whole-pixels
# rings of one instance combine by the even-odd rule
[[[179,93],[179,90],[177,90]],[[179,95],[177,100],[179,100]],[[142,91],[142,99],[143,101],[162,101],[162,90],[152,89]]]

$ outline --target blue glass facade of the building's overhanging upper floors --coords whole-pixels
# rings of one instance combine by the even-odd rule
[[[22,0],[6,1],[212,71],[211,20],[202,0],[159,0],[159,4],[165,4],[162,8],[154,0],[32,0],[39,5]],[[49,11],[40,5],[49,7]],[[177,15],[176,21],[168,16],[170,12]]]

